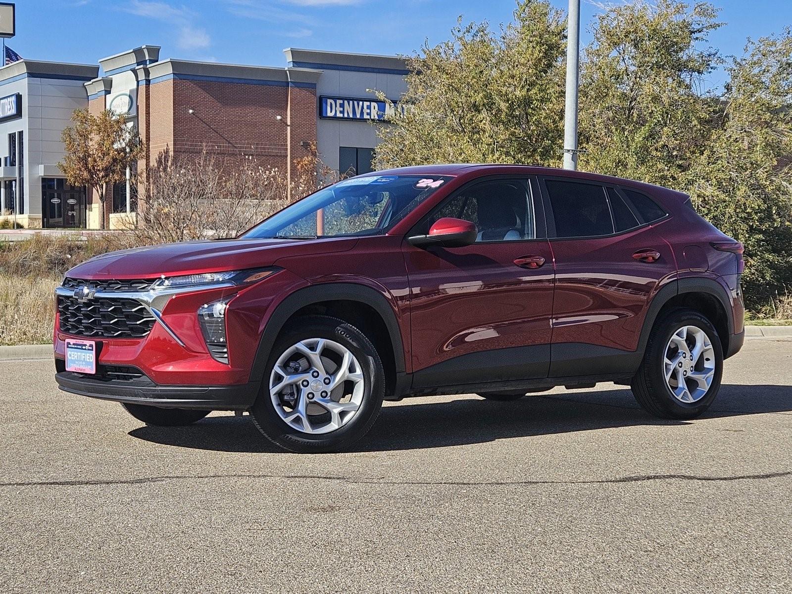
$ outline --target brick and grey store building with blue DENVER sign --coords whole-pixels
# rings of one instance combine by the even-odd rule
[[[60,135],[74,109],[123,113],[143,139],[143,175],[163,158],[204,150],[226,166],[253,160],[291,174],[314,146],[331,169],[365,173],[388,109],[375,91],[395,103],[406,90],[406,63],[394,56],[287,48],[286,67],[263,67],[161,60],[159,51],[144,45],[98,66],[21,60],[0,68],[0,153],[9,143],[0,221],[97,229],[101,217],[110,228],[134,219],[130,181],[108,188],[102,211],[97,196],[60,173]]]

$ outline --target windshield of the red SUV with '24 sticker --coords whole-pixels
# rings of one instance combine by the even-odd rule
[[[276,212],[242,237],[303,239],[381,234],[449,179],[436,175],[351,177]]]

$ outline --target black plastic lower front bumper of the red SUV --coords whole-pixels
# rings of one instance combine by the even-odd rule
[[[230,386],[161,386],[143,376],[134,381],[101,379],[59,371],[58,387],[71,394],[162,408],[201,410],[247,410],[253,406],[260,384]]]

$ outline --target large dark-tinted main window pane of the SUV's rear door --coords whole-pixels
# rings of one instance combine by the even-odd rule
[[[614,232],[605,188],[578,181],[545,180],[559,238],[593,237]]]

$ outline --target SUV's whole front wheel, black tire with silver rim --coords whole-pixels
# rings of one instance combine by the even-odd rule
[[[344,352],[349,359],[341,371]],[[288,373],[280,374],[276,364]],[[364,333],[338,318],[316,315],[290,322],[275,341],[265,369],[251,417],[268,440],[287,451],[308,454],[349,447],[371,429],[383,404],[385,371],[379,354]],[[340,379],[342,373],[349,379]],[[298,377],[303,379],[293,380]],[[285,387],[280,391],[270,390],[281,385]]]

